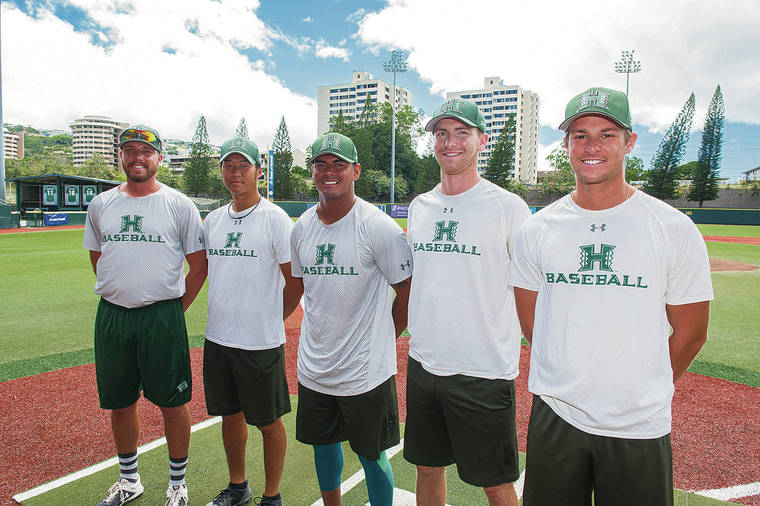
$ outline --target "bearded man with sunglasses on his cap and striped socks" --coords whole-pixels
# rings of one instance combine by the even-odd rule
[[[97,195],[87,209],[84,248],[101,296],[95,317],[100,406],[111,410],[120,477],[99,505],[142,494],[137,471],[140,391],[161,410],[169,450],[167,506],[186,505],[192,390],[184,311],[206,279],[198,209],[156,181],[161,138],[144,125],[119,136],[127,182]],[[185,275],[185,261],[189,271]]]

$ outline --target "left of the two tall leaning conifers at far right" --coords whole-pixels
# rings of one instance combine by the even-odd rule
[[[689,131],[694,119],[694,104],[692,92],[652,157],[652,168],[647,171],[644,191],[653,197],[662,200],[677,197],[676,169],[681,163],[689,142]]]

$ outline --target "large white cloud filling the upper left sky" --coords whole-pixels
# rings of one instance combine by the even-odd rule
[[[2,3],[5,121],[67,129],[100,114],[189,139],[205,114],[211,141],[221,143],[245,116],[263,148],[284,115],[293,145],[313,140],[315,101],[266,74],[263,59],[252,63],[240,52],[267,52],[278,40],[256,16],[258,2],[72,3],[99,25],[107,48],[44,8],[33,18]]]

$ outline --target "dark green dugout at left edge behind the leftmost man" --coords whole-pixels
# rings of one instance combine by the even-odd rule
[[[82,225],[95,195],[118,186],[119,181],[64,174],[8,179],[16,185],[16,211],[27,226]]]

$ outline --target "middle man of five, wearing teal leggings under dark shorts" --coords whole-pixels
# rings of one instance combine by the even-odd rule
[[[311,152],[319,203],[301,215],[290,240],[293,277],[304,288],[296,439],[313,446],[326,506],[341,504],[346,440],[364,468],[370,503],[390,506],[385,450],[400,436],[396,338],[406,328],[411,253],[396,222],[354,194],[361,166],[351,139],[328,133]]]

